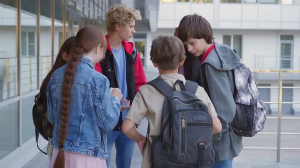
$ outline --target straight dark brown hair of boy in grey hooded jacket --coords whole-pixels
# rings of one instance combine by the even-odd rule
[[[178,26],[178,38],[186,42],[190,38],[204,38],[207,44],[214,41],[211,24],[198,14],[187,15],[182,18]]]

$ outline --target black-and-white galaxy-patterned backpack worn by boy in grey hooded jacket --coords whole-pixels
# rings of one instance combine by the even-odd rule
[[[241,64],[234,69],[235,116],[231,122],[235,134],[253,137],[264,128],[265,105],[259,96],[254,76],[249,68]]]

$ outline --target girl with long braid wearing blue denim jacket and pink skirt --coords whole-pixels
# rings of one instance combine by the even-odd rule
[[[49,167],[106,167],[106,133],[117,124],[120,99],[107,77],[95,71],[106,51],[104,35],[81,28],[70,61],[58,68],[47,87],[47,115],[54,124]]]

